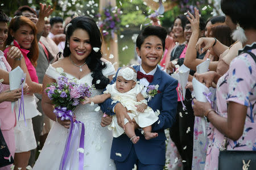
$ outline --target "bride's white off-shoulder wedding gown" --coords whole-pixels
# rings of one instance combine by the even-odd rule
[[[106,69],[102,70],[105,76],[113,75],[115,73],[112,63],[106,62]],[[66,73],[67,74],[67,73]],[[92,73],[82,77],[78,82],[92,84]],[[60,74],[54,67],[49,65],[46,75],[57,80]],[[67,74],[69,78],[74,78],[72,75]],[[101,95],[102,90],[93,90],[92,96]],[[94,109],[98,107],[97,104],[78,105],[74,111],[76,120],[81,121],[85,125],[85,138],[84,138],[84,169],[115,169],[115,164],[110,159],[110,148],[112,145],[112,132],[107,127],[102,128],[101,117],[103,113],[96,112]],[[61,156],[65,148],[65,142],[68,136],[68,129],[64,128],[57,122],[53,123],[49,131],[44,147],[40,152],[39,158],[36,161],[33,169],[47,169],[57,170],[61,162]],[[78,154],[77,154],[78,155]],[[77,156],[77,162],[79,157]],[[76,168],[67,168],[70,170],[78,170],[79,164],[74,163]],[[74,166],[72,164],[72,167]],[[67,170],[65,169],[65,170]]]

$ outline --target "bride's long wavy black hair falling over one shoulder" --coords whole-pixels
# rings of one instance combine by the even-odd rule
[[[101,44],[102,44],[102,37],[100,30],[97,27],[97,24],[94,22],[92,18],[87,16],[77,16],[76,18],[72,19],[71,24],[68,25],[66,30],[66,41],[65,41],[65,48],[63,50],[63,57],[68,57],[71,54],[69,47],[67,46],[67,40],[70,39],[73,32],[77,28],[84,29],[88,32],[90,36],[90,45],[92,48],[96,47],[99,48],[98,52],[95,52],[92,49],[89,56],[86,57],[85,61],[88,65],[89,69],[92,71],[92,84],[94,84],[96,89],[103,89],[109,84],[109,79],[106,78],[102,74],[102,69],[106,67],[106,63],[101,61],[102,53],[101,53]],[[60,54],[59,54],[60,56]],[[97,80],[100,80],[100,83],[96,83]]]

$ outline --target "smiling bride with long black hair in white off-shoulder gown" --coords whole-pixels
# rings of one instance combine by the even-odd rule
[[[61,67],[68,78],[77,78],[77,83],[94,84],[96,90],[92,91],[92,96],[100,95],[109,80],[112,79],[115,70],[112,63],[101,59],[102,54],[99,50],[101,37],[96,23],[91,18],[78,16],[71,20],[71,24],[67,25],[66,32],[64,58],[49,65],[43,87],[46,88],[47,84],[57,81],[60,73],[56,68]],[[56,121],[56,116],[53,113],[54,105],[46,94],[43,94],[42,107],[44,113]],[[115,169],[115,164],[110,159],[113,136],[111,131],[101,127],[103,113],[97,111],[97,107],[97,104],[79,104],[74,111],[76,120],[85,125],[83,169],[112,170]],[[59,169],[69,125],[70,121],[58,119],[57,122],[54,122],[33,169]],[[72,163],[65,170],[80,170],[78,155],[69,155]]]

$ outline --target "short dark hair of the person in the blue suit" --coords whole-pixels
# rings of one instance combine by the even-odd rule
[[[136,46],[141,49],[141,45],[143,44],[144,40],[148,36],[157,36],[162,41],[163,50],[164,46],[166,45],[166,36],[167,31],[163,27],[150,25],[146,27],[141,33],[139,33],[137,40],[136,40]]]

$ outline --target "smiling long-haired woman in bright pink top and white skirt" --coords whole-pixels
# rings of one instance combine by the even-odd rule
[[[15,39],[15,40],[14,40]],[[38,59],[38,42],[36,41],[36,27],[30,19],[25,16],[16,16],[9,24],[8,38],[5,45],[14,45],[22,52],[23,60],[22,70],[26,73],[26,83],[30,86],[30,94],[24,95],[24,110],[26,120],[22,118],[17,121],[19,126],[14,128],[16,150],[14,164],[16,168],[26,169],[30,150],[36,148],[34,130],[32,126],[32,117],[39,114],[36,109],[36,99],[34,93],[42,91],[42,84],[38,83],[36,75],[36,61]],[[10,48],[5,49],[5,57]],[[9,63],[12,59],[7,58]],[[12,66],[12,64],[10,64]],[[18,113],[18,112],[16,112]],[[16,117],[18,117],[16,115]],[[26,121],[26,123],[25,123]]]

